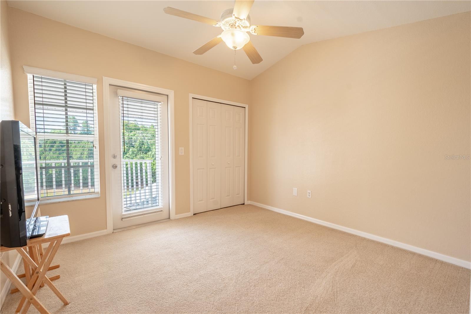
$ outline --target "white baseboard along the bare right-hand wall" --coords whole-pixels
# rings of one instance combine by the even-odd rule
[[[335,223],[328,223],[328,222],[325,222],[325,221],[322,221],[322,220],[319,220],[319,219],[316,219],[316,218],[312,218],[312,217],[292,213],[292,212],[289,212],[289,211],[284,210],[284,209],[280,209],[280,208],[276,208],[276,207],[272,207],[272,206],[252,202],[252,201],[249,201],[247,203],[258,206],[258,207],[262,207],[262,208],[265,208],[265,209],[269,209],[269,210],[272,210],[272,211],[280,213],[280,214],[284,214],[284,215],[296,217],[296,218],[299,218],[299,219],[307,220],[311,223],[317,223],[317,224],[320,224],[320,225],[323,225],[323,226],[326,226],[326,227],[329,227],[329,228],[333,228],[333,229],[341,230],[341,231],[348,232],[348,233],[351,233],[351,234],[355,234],[357,236],[360,236],[360,237],[363,237],[363,238],[366,238],[366,239],[386,243],[386,244],[392,245],[393,247],[403,248],[403,249],[408,250],[408,251],[412,251],[412,252],[419,253],[419,254],[422,254],[422,255],[425,255],[425,256],[429,256],[429,257],[432,257],[432,258],[439,259],[440,261],[444,261],[444,262],[447,262],[447,263],[450,263],[450,264],[455,264],[455,265],[458,265],[458,266],[461,266],[461,267],[464,267],[464,268],[471,269],[471,262],[467,262],[467,261],[464,261],[462,259],[458,259],[458,258],[455,258],[455,257],[452,257],[452,256],[447,256],[447,255],[440,254],[440,253],[437,253],[437,252],[429,251],[429,250],[424,249],[424,248],[414,247],[413,245],[398,242],[398,241],[395,241],[395,240],[382,238],[380,236],[377,236],[377,235],[374,235],[374,234],[371,234],[371,233],[358,231],[358,230],[351,229],[351,228],[348,228],[348,227],[344,227],[344,226],[341,226],[341,225],[338,225],[338,224],[335,224]]]

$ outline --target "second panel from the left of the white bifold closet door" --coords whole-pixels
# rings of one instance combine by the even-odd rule
[[[208,206],[221,208],[221,104],[208,101]]]

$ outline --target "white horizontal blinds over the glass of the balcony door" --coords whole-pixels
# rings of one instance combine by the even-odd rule
[[[123,212],[162,206],[161,104],[119,96]]]

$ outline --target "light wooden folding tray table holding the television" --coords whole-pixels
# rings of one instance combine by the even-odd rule
[[[0,259],[0,268],[1,271],[7,276],[7,278],[13,282],[16,288],[23,294],[18,307],[16,308],[16,313],[21,311],[21,314],[25,314],[29,307],[33,305],[38,309],[41,314],[49,314],[49,311],[41,304],[41,302],[36,297],[38,289],[44,286],[44,283],[56,294],[56,296],[65,304],[69,304],[69,301],[60,293],[60,291],[54,286],[51,282],[51,279],[46,276],[46,273],[49,270],[50,264],[54,259],[54,256],[59,249],[59,246],[62,240],[70,235],[70,226],[69,218],[67,215],[49,217],[48,227],[46,234],[41,238],[30,239],[27,242],[27,246],[23,248],[5,248],[1,247],[0,252],[16,250],[22,257],[25,265],[25,285],[19,277]],[[37,247],[45,243],[49,243],[46,252],[42,255],[37,251]],[[33,250],[33,256],[37,256],[37,260],[33,260],[30,255],[26,252],[26,248]],[[30,251],[31,252],[31,251]],[[29,273],[29,267],[32,269],[32,273]],[[30,278],[28,278],[30,277]],[[24,305],[26,301],[26,305]]]

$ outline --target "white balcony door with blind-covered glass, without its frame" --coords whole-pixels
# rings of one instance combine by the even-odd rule
[[[169,218],[167,95],[110,86],[113,229]]]

